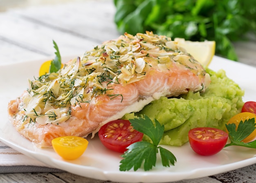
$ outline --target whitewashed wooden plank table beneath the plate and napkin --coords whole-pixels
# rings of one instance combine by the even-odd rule
[[[82,55],[101,42],[119,36],[111,0],[12,9],[0,13],[0,66],[54,56],[52,40],[63,57]],[[256,66],[256,40],[235,44],[240,62]],[[1,167],[0,167],[1,168]],[[105,183],[67,172],[0,174],[1,183]],[[176,183],[256,182],[256,164],[200,179]]]

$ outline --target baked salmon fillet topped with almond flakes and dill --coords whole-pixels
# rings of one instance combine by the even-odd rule
[[[103,124],[153,100],[204,92],[209,83],[203,66],[170,37],[125,33],[56,73],[29,80],[29,88],[9,102],[8,111],[23,137],[51,147],[56,137],[93,136]]]

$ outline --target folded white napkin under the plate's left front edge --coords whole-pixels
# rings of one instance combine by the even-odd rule
[[[48,165],[10,148],[0,141],[0,173],[59,172]]]

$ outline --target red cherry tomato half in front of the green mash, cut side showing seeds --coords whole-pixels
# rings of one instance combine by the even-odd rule
[[[210,156],[220,152],[227,143],[228,134],[217,128],[193,128],[189,130],[189,143],[198,154]]]

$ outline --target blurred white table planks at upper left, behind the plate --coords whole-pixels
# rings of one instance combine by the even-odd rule
[[[2,60],[10,63],[49,58],[54,55],[52,40],[62,56],[81,56],[103,41],[117,38],[111,13],[114,6],[108,1],[97,4],[87,1],[1,13],[0,64]]]

